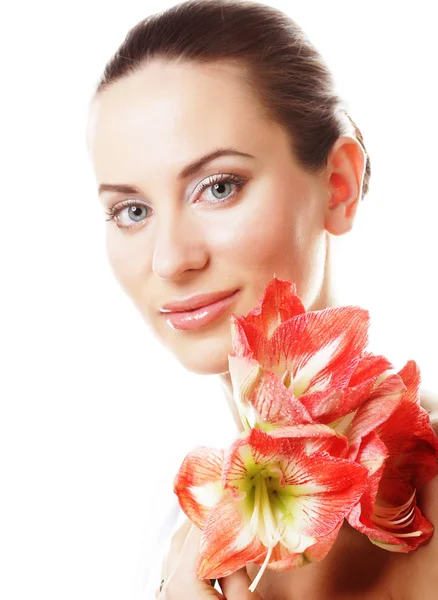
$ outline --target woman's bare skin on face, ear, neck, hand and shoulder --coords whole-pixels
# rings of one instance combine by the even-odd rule
[[[120,209],[106,229],[117,280],[159,342],[187,369],[218,375],[239,428],[228,373],[229,313],[208,326],[181,331],[159,309],[175,299],[232,288],[239,294],[229,312],[247,314],[274,274],[297,285],[308,310],[339,304],[330,248],[333,237],[354,224],[365,171],[362,147],[354,136],[341,136],[326,167],[309,174],[292,155],[287,133],[262,118],[237,65],[158,61],[93,100],[87,144],[98,185],[136,188],[100,195],[105,210]],[[230,147],[251,157],[222,156],[178,177],[187,164]],[[210,183],[230,173],[244,185]],[[209,185],[201,193],[205,182]],[[219,193],[225,193],[220,202]],[[138,219],[121,206],[127,199],[135,199]],[[435,524],[437,488],[435,479],[420,505]],[[206,582],[196,581],[199,532],[192,530],[187,538],[188,531],[173,539],[161,600],[187,598],[174,585],[182,581],[190,582],[192,600],[214,597]],[[412,554],[392,554],[346,526],[324,561],[287,573],[267,571],[257,591],[276,600],[432,600],[438,586],[437,545],[434,537]],[[246,572],[226,578],[225,597],[244,599],[257,570],[248,565]]]

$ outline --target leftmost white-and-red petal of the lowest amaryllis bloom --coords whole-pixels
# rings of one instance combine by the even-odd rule
[[[223,450],[198,446],[187,454],[174,478],[179,504],[199,529],[223,496],[223,463]]]

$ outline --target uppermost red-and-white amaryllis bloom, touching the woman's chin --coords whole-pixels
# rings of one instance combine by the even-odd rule
[[[392,368],[365,351],[366,310],[306,312],[296,286],[276,277],[256,308],[232,314],[231,324],[230,376],[246,428],[331,424],[353,413]]]

